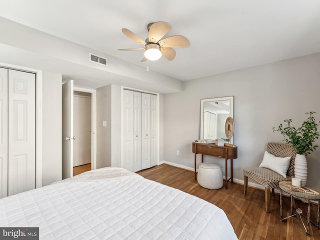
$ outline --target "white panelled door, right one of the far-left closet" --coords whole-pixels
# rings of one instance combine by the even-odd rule
[[[8,69],[8,195],[35,188],[35,74]]]

